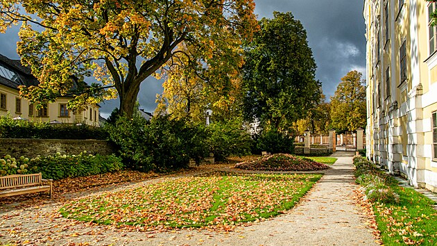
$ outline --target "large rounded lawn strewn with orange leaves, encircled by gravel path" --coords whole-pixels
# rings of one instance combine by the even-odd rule
[[[216,172],[70,202],[66,218],[141,227],[227,226],[270,218],[292,208],[321,174]]]

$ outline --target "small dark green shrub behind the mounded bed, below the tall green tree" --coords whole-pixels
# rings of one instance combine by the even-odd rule
[[[294,138],[290,138],[284,133],[272,129],[263,131],[257,139],[257,149],[267,151],[271,154],[291,154],[294,151]]]

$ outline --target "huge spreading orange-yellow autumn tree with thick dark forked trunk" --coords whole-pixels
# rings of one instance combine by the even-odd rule
[[[74,107],[118,95],[126,115],[148,76],[188,59],[199,78],[211,81],[212,54],[239,57],[241,40],[257,26],[252,0],[21,0],[1,1],[0,8],[0,31],[22,23],[17,50],[40,81],[22,88],[24,97],[44,104],[73,95]],[[76,86],[86,76],[99,82]]]

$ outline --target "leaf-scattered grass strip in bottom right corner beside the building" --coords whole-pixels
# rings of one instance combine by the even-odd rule
[[[437,245],[434,202],[411,188],[396,187],[395,191],[399,204],[373,206],[384,245]]]

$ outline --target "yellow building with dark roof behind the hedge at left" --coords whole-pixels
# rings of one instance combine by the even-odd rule
[[[19,95],[19,85],[37,85],[30,69],[23,67],[19,60],[10,60],[0,55],[0,116],[10,115],[33,122],[83,123],[98,125],[99,106],[88,105],[80,113],[67,108],[69,97],[60,97],[40,110]]]

